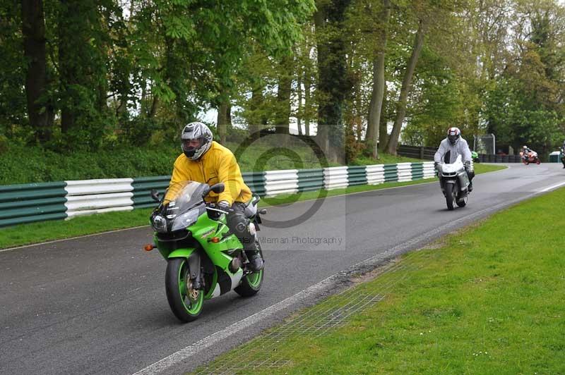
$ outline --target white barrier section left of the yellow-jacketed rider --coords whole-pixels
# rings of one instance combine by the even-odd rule
[[[67,219],[133,209],[133,178],[66,181]]]

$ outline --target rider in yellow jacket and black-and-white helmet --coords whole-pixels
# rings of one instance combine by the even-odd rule
[[[227,226],[242,242],[251,270],[263,268],[263,259],[258,252],[255,236],[249,230],[249,219],[245,216],[246,204],[251,200],[251,189],[245,185],[242,172],[234,154],[218,142],[208,126],[200,122],[189,123],[181,133],[182,154],[174,161],[171,182],[186,180],[214,185],[224,183],[225,190],[220,194],[210,192],[207,202],[214,202],[218,209],[226,211]]]

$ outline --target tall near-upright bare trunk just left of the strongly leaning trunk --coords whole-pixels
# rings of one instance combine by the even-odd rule
[[[381,30],[379,32],[379,42],[377,54],[373,61],[373,91],[371,93],[371,104],[369,105],[369,116],[367,117],[367,137],[369,145],[372,147],[372,154],[375,159],[379,158],[379,138],[381,110],[383,108],[384,87],[384,54],[386,50],[386,38],[388,28],[388,18],[391,16],[390,0],[383,0],[383,9],[380,14]]]

